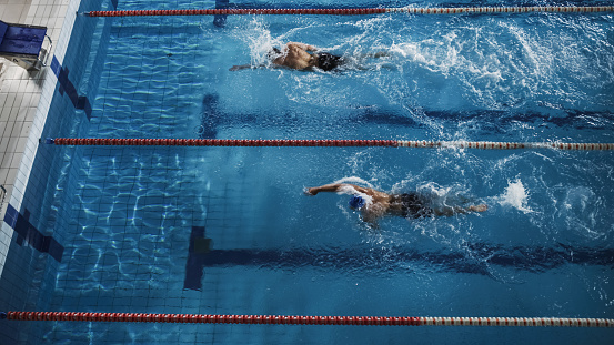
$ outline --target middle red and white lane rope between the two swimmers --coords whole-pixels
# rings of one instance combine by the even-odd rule
[[[489,142],[489,141],[414,141],[414,140],[241,140],[241,139],[94,139],[48,138],[47,144],[103,146],[391,146],[432,149],[533,150],[555,149],[574,151],[612,151],[614,143],[557,142]]]

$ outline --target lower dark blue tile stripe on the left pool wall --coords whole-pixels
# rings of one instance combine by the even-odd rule
[[[23,241],[41,253],[49,253],[57,262],[62,261],[64,247],[52,236],[40,233],[29,221],[30,212],[26,210],[19,213],[11,204],[7,206],[4,222],[17,232],[17,244],[23,245]]]

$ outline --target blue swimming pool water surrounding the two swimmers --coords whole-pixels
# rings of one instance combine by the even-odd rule
[[[53,102],[61,105],[50,113],[57,121],[46,136],[614,142],[612,14],[241,16],[228,17],[223,28],[210,17],[78,20],[93,27],[83,43],[91,53],[62,68],[80,75],[72,82],[89,97],[91,112],[74,110],[58,90]],[[286,41],[344,55],[391,54],[361,61],[365,70],[229,71],[264,63],[268,49]],[[23,268],[28,296],[6,301],[12,308],[614,315],[611,152],[41,148],[52,156],[34,163],[49,166],[36,169],[49,175],[38,189],[44,192],[18,211],[28,209],[28,221],[52,234],[63,254],[26,256],[12,244],[14,255],[31,262]],[[346,197],[303,195],[306,186],[340,180],[417,190],[440,203],[471,199],[490,210],[389,217],[373,230],[346,207]],[[17,324],[11,336],[22,342],[71,344],[612,337],[610,329],[573,328]]]

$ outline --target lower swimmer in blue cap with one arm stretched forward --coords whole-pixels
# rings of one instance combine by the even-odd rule
[[[363,221],[373,225],[376,225],[378,219],[384,215],[421,219],[434,215],[450,216],[459,213],[484,212],[489,209],[486,204],[471,205],[467,207],[444,206],[442,209],[432,209],[427,200],[415,192],[389,194],[349,183],[332,183],[314,186],[308,189],[305,194],[316,195],[320,192],[352,193],[353,195],[349,203],[350,207],[361,211]],[[365,196],[371,197],[369,203]]]

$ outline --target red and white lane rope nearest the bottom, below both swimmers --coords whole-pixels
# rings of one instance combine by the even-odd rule
[[[608,318],[561,317],[406,317],[406,316],[296,316],[214,315],[76,312],[7,312],[0,318],[17,321],[138,322],[190,324],[265,324],[338,326],[524,326],[524,327],[614,327]]]

